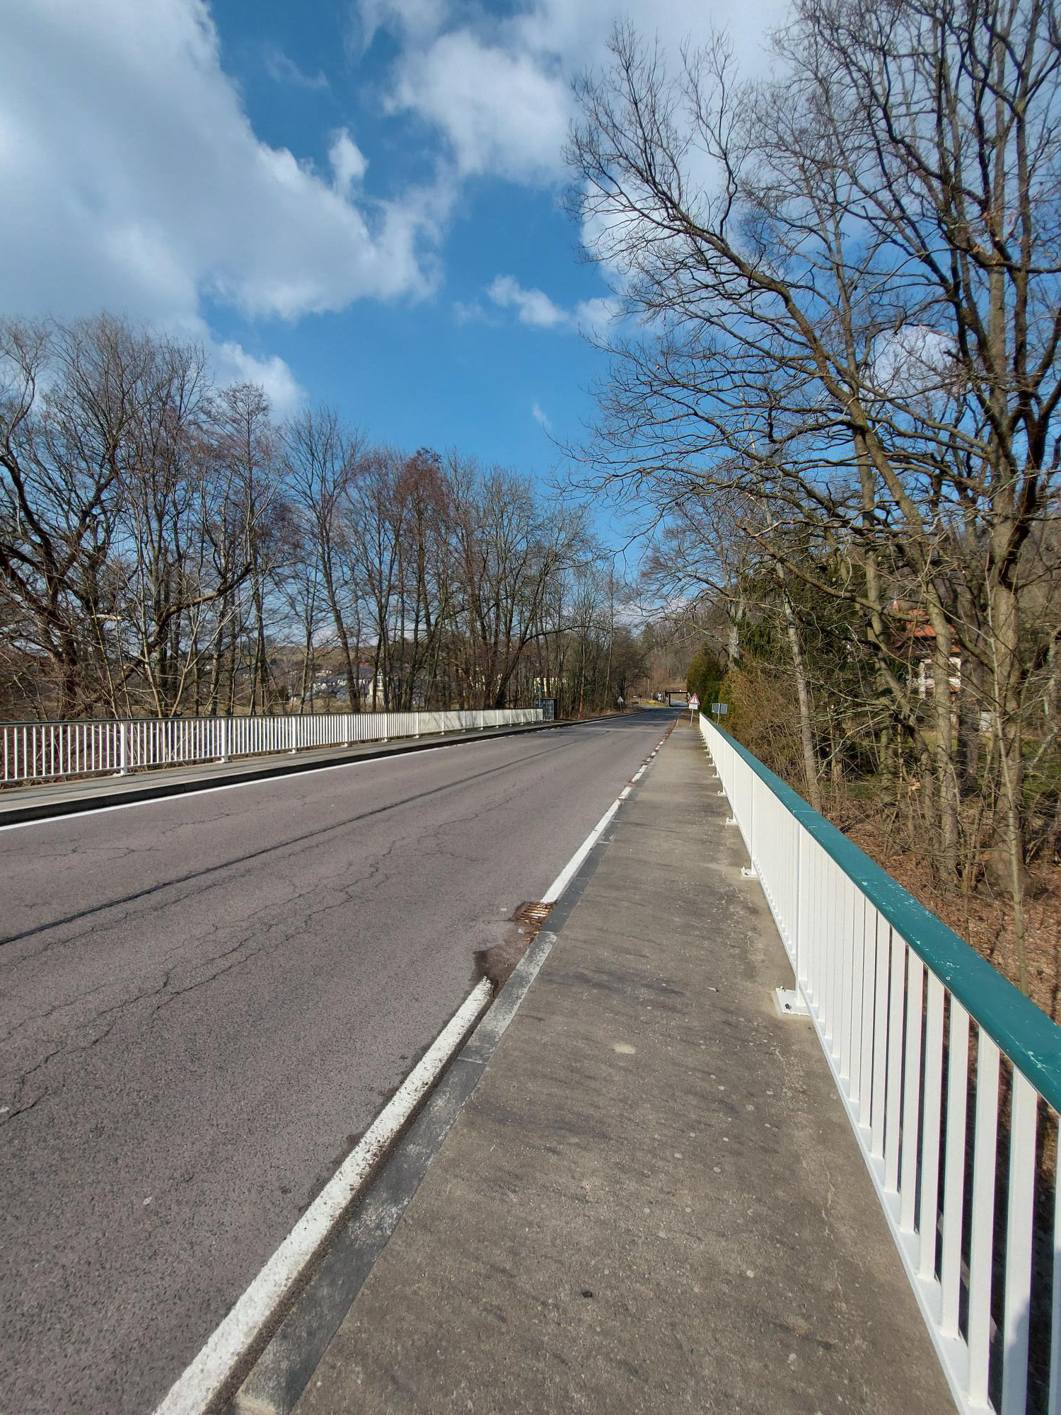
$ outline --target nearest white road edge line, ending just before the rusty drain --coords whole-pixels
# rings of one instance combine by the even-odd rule
[[[202,1415],[216,1398],[262,1326],[342,1218],[382,1152],[460,1047],[491,993],[484,979],[457,1009],[184,1375],[173,1384],[154,1415]]]

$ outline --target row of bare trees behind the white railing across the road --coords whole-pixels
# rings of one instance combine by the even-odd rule
[[[0,327],[0,716],[613,709],[647,689],[583,509],[277,422],[110,316]]]

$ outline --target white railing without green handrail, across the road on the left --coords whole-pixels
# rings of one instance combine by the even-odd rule
[[[552,708],[552,705],[550,705]],[[542,722],[542,708],[0,723],[0,784]]]

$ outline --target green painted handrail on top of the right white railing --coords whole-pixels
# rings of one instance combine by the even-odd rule
[[[859,886],[1043,1099],[1061,1111],[1061,1027],[736,737],[721,727],[714,730]]]

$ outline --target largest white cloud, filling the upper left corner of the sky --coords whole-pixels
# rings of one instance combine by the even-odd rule
[[[204,0],[8,6],[0,307],[175,324],[204,297],[294,320],[427,293],[441,194],[351,200],[347,142],[332,185],[256,137]]]

